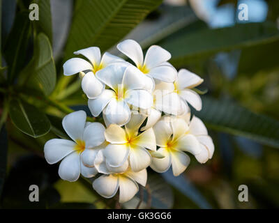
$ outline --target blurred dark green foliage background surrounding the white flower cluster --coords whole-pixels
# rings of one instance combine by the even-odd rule
[[[149,169],[149,187],[123,208],[135,208],[141,198],[140,208],[279,207],[278,1],[266,0],[265,22],[211,29],[189,6],[160,5],[161,0],[76,0],[66,40],[53,32],[49,0],[0,3],[10,10],[2,24],[12,24],[1,32],[1,208],[115,207],[114,199],[93,191],[90,180],[60,180],[57,165],[43,158],[43,145],[66,137],[61,118],[87,103],[80,79],[63,76],[63,61],[93,45],[115,53],[114,45],[123,38],[134,38],[145,49],[161,45],[172,53],[177,69],[186,67],[205,79],[199,90],[208,93],[202,112],[195,115],[204,120],[216,146],[211,161],[201,165],[191,157],[179,178]],[[29,20],[30,3],[38,3],[39,21]],[[220,6],[226,3],[236,6],[237,1],[219,1]],[[63,52],[54,58],[57,38]],[[227,60],[218,61],[220,55]],[[223,66],[234,61],[236,73],[229,77]],[[32,184],[40,187],[38,203],[28,199]],[[248,185],[249,202],[237,199],[242,184]]]

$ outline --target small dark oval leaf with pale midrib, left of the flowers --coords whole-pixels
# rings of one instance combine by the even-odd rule
[[[20,99],[12,99],[9,107],[13,124],[25,134],[36,138],[50,131],[50,121],[47,116],[33,105]]]

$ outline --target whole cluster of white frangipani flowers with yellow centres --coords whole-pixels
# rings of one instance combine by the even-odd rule
[[[48,163],[61,161],[63,180],[96,176],[93,189],[106,198],[119,190],[122,203],[135,196],[137,183],[146,185],[147,167],[162,173],[172,166],[178,176],[190,163],[184,152],[204,163],[214,145],[204,123],[190,119],[188,103],[202,109],[191,89],[203,79],[185,69],[177,72],[162,47],[149,47],[145,58],[135,40],[124,40],[117,48],[135,66],[107,52],[102,57],[98,47],[75,52],[89,61],[73,58],[63,65],[64,75],[80,73],[89,109],[93,116],[103,112],[106,127],[86,122],[84,111],[73,112],[62,121],[73,141],[51,139],[44,151]]]

